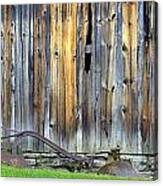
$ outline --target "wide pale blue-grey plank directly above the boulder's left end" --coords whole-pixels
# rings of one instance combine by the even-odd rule
[[[112,134],[111,146],[122,146],[123,120],[122,120],[122,89],[123,89],[123,61],[122,61],[122,4],[115,4],[115,37],[114,37],[114,62],[112,84]],[[113,88],[114,87],[114,88]]]

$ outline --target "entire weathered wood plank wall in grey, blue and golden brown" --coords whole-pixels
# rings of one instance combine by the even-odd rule
[[[1,23],[3,126],[69,151],[157,152],[156,3],[6,5]]]

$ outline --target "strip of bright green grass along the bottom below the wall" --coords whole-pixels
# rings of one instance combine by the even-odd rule
[[[2,164],[2,177],[21,178],[57,178],[57,179],[95,179],[95,180],[136,180],[144,181],[144,178],[124,178],[109,175],[97,175],[96,173],[72,173],[63,170],[17,168]]]

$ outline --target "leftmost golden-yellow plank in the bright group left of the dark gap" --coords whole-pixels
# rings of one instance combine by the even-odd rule
[[[59,144],[59,120],[58,120],[58,4],[50,5],[50,136]]]

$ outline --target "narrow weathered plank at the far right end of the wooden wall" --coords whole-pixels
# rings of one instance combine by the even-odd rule
[[[152,89],[152,127],[151,127],[151,152],[158,152],[158,4],[152,2],[151,16],[151,31],[152,31],[152,44],[151,50],[153,53],[153,72],[151,74],[151,89]],[[157,167],[157,162],[156,165]]]

